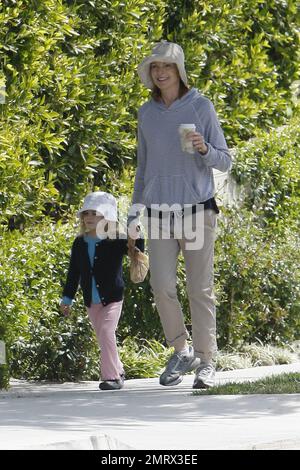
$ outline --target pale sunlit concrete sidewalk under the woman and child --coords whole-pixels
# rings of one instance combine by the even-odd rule
[[[284,372],[300,363],[218,372],[217,383]],[[0,449],[300,449],[300,395],[194,396],[192,382],[103,392],[98,382],[12,381],[0,391]]]

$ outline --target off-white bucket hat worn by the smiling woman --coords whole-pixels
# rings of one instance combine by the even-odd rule
[[[182,48],[173,42],[161,41],[154,46],[152,54],[140,63],[138,66],[138,74],[143,84],[152,90],[154,84],[150,73],[150,64],[152,62],[170,62],[176,64],[179,76],[185,86],[187,85],[187,76],[184,68],[184,53]]]

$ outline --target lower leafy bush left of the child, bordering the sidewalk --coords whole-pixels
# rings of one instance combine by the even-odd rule
[[[47,221],[2,236],[0,324],[7,328],[10,372],[31,379],[75,380],[98,368],[82,303],[58,312],[74,226]]]

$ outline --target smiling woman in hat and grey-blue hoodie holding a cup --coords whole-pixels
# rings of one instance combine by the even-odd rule
[[[219,211],[213,168],[226,172],[231,158],[213,104],[188,86],[178,44],[157,44],[139,65],[138,74],[152,97],[138,113],[132,203],[146,206],[149,226],[158,221],[159,236],[152,230],[148,240],[150,283],[166,340],[175,349],[160,383],[176,385],[186,372],[195,370],[193,388],[206,388],[214,383],[217,349],[213,263]],[[162,228],[166,218],[167,237]],[[201,247],[192,247],[184,230],[178,235],[180,223],[184,227],[190,221],[193,231],[203,235]],[[180,251],[186,268],[192,346],[176,292]]]

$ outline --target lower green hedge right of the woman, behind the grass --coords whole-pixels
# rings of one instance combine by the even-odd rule
[[[300,334],[300,121],[235,149],[238,207],[216,244],[219,341],[284,342]]]

